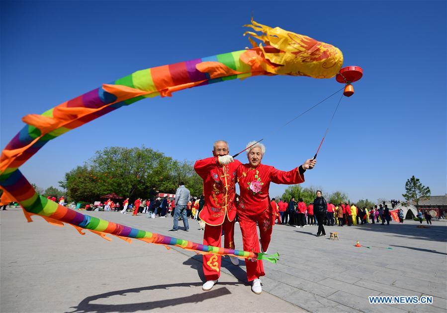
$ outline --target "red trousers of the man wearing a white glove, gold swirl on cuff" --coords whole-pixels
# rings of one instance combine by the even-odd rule
[[[203,244],[207,246],[221,247],[222,229],[225,232],[224,248],[234,249],[234,220],[230,222],[225,216],[222,225],[205,225]],[[203,273],[206,280],[217,280],[220,276],[220,263],[222,256],[218,254],[203,255]]]

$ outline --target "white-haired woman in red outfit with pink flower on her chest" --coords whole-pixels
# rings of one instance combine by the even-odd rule
[[[242,243],[244,250],[254,252],[267,251],[270,243],[274,212],[270,205],[268,188],[270,182],[275,184],[299,184],[304,182],[304,172],[312,169],[316,161],[309,159],[297,168],[289,172],[279,171],[272,166],[261,164],[266,147],[256,141],[247,144],[248,164],[241,164],[237,170],[240,187],[240,200],[237,213],[239,225],[242,231]],[[258,223],[261,239],[258,240],[256,231]],[[261,242],[261,248],[260,248]],[[252,291],[261,294],[261,280],[264,276],[262,260],[247,259],[247,279],[253,281]]]

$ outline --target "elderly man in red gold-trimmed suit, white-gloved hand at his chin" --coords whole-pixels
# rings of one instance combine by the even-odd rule
[[[224,230],[224,248],[234,249],[234,222],[236,217],[235,180],[236,170],[241,164],[233,160],[228,143],[218,140],[213,144],[213,157],[198,160],[194,170],[203,179],[203,193],[205,205],[199,213],[199,218],[205,222],[203,244],[220,247],[222,229]],[[239,259],[230,256],[234,265]],[[220,276],[221,256],[217,254],[203,255],[203,273],[206,282],[204,291],[211,290]]]

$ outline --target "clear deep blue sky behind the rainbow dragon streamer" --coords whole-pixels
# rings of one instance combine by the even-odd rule
[[[446,1],[1,1],[1,148],[21,118],[136,70],[249,46],[255,20],[330,43],[363,78],[344,98],[303,186],[350,199],[402,198],[415,175],[446,193]],[[312,157],[338,97],[268,135],[342,85],[251,77],[121,108],[43,147],[21,170],[39,187],[108,146],[145,145],[176,159],[231,152],[265,136],[263,163],[291,170]],[[244,155],[239,156],[246,162]],[[272,185],[270,194],[285,186]]]

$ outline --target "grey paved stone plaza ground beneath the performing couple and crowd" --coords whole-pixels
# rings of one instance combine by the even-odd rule
[[[117,212],[93,216],[163,235],[201,242],[203,231],[168,232],[172,218],[146,219]],[[203,292],[201,256],[174,247],[111,236],[107,242],[71,226],[56,227],[18,209],[1,211],[1,312],[446,312],[447,225],[391,222],[389,226],[276,225],[264,262],[263,293],[246,281],[245,263],[226,257],[218,284]],[[182,226],[182,222],[179,222]],[[182,227],[180,227],[182,229]],[[242,249],[236,224],[236,248]],[[340,241],[329,240],[338,231]],[[362,246],[354,247],[356,241]],[[392,249],[386,249],[392,248]],[[432,305],[371,305],[368,296],[432,295]]]

